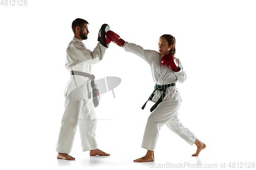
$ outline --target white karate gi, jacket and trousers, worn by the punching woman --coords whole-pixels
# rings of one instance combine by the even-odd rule
[[[161,58],[163,55],[156,51],[143,50],[141,46],[129,42],[125,42],[123,49],[126,52],[136,54],[150,64],[154,82],[158,85],[176,83],[177,81],[179,81],[179,83],[183,83],[186,80],[186,73],[178,58],[176,58],[176,61],[181,70],[175,72],[169,67],[169,65],[161,64]],[[163,91],[156,90],[151,101],[156,103],[162,93]],[[148,96],[150,96],[150,94],[151,91],[148,93]],[[184,128],[182,123],[179,121],[178,110],[180,105],[181,98],[179,90],[175,86],[168,87],[165,91],[163,101],[147,119],[147,125],[141,146],[142,148],[151,151],[155,150],[159,131],[165,124],[170,130],[179,135],[190,145],[195,143],[197,137],[189,129]]]

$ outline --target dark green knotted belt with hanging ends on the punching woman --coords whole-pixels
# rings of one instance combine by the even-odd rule
[[[164,96],[165,96],[165,90],[166,90],[166,88],[168,88],[168,87],[170,87],[170,86],[176,86],[176,84],[175,83],[172,83],[172,84],[165,84],[165,85],[158,85],[158,84],[156,84],[155,85],[155,90],[153,91],[153,93],[150,95],[150,98],[148,98],[148,100],[146,101],[146,103],[149,101],[149,100],[152,100],[153,99],[153,96],[155,95],[154,93],[155,93],[155,91],[156,90],[160,90],[160,91],[163,91],[163,93],[162,93],[162,95],[160,96],[160,98],[159,98],[159,100],[156,102],[156,104],[154,105],[154,106],[152,106],[152,108],[150,109],[150,112],[153,112],[153,110],[155,110],[156,109],[156,107],[159,105],[159,103],[161,103],[162,101],[163,101],[163,98],[164,98]],[[142,110],[145,108],[145,106],[146,106],[146,103],[142,106]]]

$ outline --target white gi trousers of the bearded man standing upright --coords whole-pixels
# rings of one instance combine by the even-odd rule
[[[93,100],[71,100],[66,96],[56,151],[65,154],[71,152],[78,125],[82,151],[98,149],[95,137],[96,124]]]

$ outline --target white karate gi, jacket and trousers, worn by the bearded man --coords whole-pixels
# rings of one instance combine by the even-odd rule
[[[67,47],[66,68],[92,74],[92,65],[102,60],[106,47],[98,43],[91,52],[77,38],[73,37]],[[96,114],[92,100],[90,79],[72,75],[65,89],[65,112],[60,126],[56,151],[69,154],[79,124],[82,151],[98,149],[95,130]]]

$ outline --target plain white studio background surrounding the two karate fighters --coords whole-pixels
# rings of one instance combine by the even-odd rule
[[[163,164],[245,163],[255,160],[255,1],[32,1],[0,5],[1,159],[4,169],[151,169]],[[9,1],[8,1],[9,3]],[[125,41],[158,50],[163,34],[176,38],[176,57],[187,74],[177,83],[179,117],[207,147],[191,157],[190,146],[163,126],[155,162],[134,163],[145,155],[141,142],[154,90],[150,67],[114,43],[94,65],[96,79],[121,78],[101,95],[97,111],[99,149],[110,157],[81,152],[79,131],[71,155],[57,160],[55,145],[64,111],[64,66],[73,37],[71,23],[86,19],[93,50],[103,23]],[[209,165],[210,166],[210,165]],[[1,167],[1,168],[2,168]],[[238,167],[238,164],[236,164]],[[251,166],[252,167],[252,166]],[[232,168],[234,169],[234,168]]]

